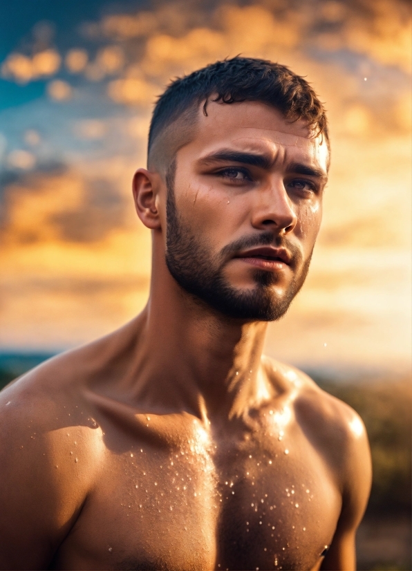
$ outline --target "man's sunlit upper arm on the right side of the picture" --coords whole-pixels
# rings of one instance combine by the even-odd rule
[[[371,453],[366,429],[352,410],[345,419],[348,438],[344,451],[342,509],[322,570],[352,571],[356,568],[355,534],[362,521],[371,491]]]

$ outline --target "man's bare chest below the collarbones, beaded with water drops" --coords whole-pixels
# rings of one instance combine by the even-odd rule
[[[269,447],[111,454],[57,568],[310,569],[340,497],[318,456]]]

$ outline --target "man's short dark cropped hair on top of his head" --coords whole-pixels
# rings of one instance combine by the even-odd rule
[[[210,64],[171,82],[156,103],[149,130],[149,145],[184,111],[205,100],[235,103],[257,101],[279,109],[288,120],[306,120],[328,144],[328,122],[323,104],[303,77],[267,59],[233,57]]]

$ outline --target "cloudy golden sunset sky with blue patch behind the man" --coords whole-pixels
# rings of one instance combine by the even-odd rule
[[[266,353],[409,368],[409,3],[20,0],[0,23],[0,350],[62,350],[142,310],[151,238],[131,178],[153,102],[171,78],[242,53],[304,75],[332,143],[310,273]]]

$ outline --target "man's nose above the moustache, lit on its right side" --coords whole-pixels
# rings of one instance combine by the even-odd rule
[[[279,234],[292,232],[297,224],[297,215],[283,181],[272,181],[257,192],[259,199],[252,213],[252,226]]]

